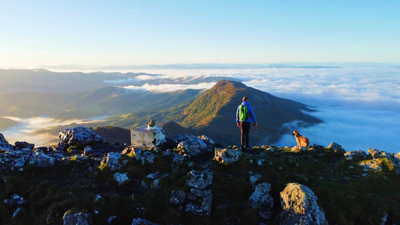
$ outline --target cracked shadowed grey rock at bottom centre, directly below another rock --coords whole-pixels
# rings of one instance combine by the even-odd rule
[[[187,195],[188,202],[185,211],[194,215],[211,215],[212,192],[211,190],[200,190],[191,188]],[[200,205],[198,204],[200,203]]]

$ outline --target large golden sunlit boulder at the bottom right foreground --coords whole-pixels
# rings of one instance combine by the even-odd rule
[[[327,225],[317,197],[307,186],[288,183],[280,193],[281,225]]]

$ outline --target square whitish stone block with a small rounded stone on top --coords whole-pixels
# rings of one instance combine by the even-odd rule
[[[139,127],[130,131],[130,141],[135,147],[157,147],[166,142],[165,132],[160,126],[148,129],[147,126]]]

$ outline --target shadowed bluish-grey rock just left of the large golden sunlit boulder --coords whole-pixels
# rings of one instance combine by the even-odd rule
[[[256,209],[262,218],[271,219],[272,207],[274,207],[274,199],[271,196],[271,185],[269,183],[258,184],[248,200],[248,205]]]

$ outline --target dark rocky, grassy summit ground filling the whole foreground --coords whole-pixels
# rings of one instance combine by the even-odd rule
[[[35,148],[0,134],[0,224],[400,224],[400,153],[153,136],[76,127]]]

